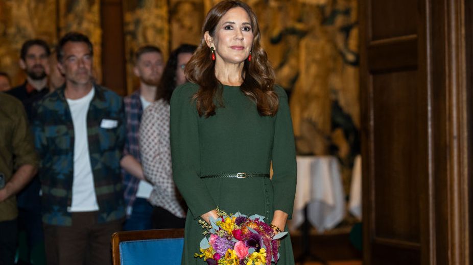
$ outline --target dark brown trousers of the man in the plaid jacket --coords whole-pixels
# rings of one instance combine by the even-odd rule
[[[97,223],[97,211],[73,213],[72,226],[44,224],[48,265],[112,264],[111,235],[123,220]]]

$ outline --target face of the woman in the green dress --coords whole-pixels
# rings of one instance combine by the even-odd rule
[[[220,19],[215,34],[207,44],[215,47],[216,61],[239,64],[245,61],[253,45],[253,29],[245,9],[235,7]]]

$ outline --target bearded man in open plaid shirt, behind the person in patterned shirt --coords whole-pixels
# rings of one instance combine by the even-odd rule
[[[164,62],[161,50],[156,46],[143,46],[135,52],[134,74],[139,78],[139,89],[125,97],[125,114],[127,117],[127,138],[122,166],[123,183],[125,186],[125,204],[127,220],[124,230],[151,229],[153,206],[148,199],[153,186],[145,180],[141,168],[138,130],[143,111],[156,97],[156,89],[161,80]]]

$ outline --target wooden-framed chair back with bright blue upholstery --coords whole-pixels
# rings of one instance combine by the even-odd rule
[[[113,265],[181,264],[184,229],[116,232]]]

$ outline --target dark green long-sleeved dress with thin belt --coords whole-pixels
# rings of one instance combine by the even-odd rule
[[[265,216],[274,210],[291,217],[296,190],[296,155],[286,92],[275,87],[279,109],[274,117],[260,116],[256,105],[239,87],[223,86],[224,107],[209,118],[199,117],[192,96],[198,85],[178,87],[171,98],[171,155],[173,177],[189,210],[185,222],[182,264],[203,264],[195,258],[203,238],[198,220],[219,206],[228,214]],[[264,177],[209,178],[219,173],[269,173]],[[279,248],[278,264],[294,264],[291,239]]]

